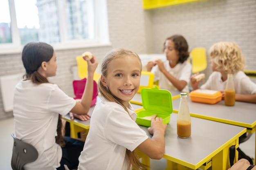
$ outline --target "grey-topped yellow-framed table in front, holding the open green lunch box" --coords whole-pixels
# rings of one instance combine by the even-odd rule
[[[141,107],[135,104],[132,106],[135,109]],[[93,109],[94,106],[90,109],[89,114]],[[77,137],[78,132],[90,128],[90,120],[70,120],[69,115],[63,119],[70,122],[72,137]],[[177,137],[176,119],[177,114],[171,114],[171,121],[166,129],[166,148],[163,158],[167,159],[167,169],[173,169],[174,166],[178,166],[179,170],[188,170],[188,168],[206,170],[211,166],[212,170],[229,168],[229,147],[232,145],[238,147],[239,137],[246,132],[246,128],[191,117],[191,137],[181,139]],[[149,137],[152,136],[148,133],[147,127],[140,127],[147,132]],[[150,166],[149,157],[139,150],[137,152],[141,161]],[[238,154],[236,154],[235,160],[237,161],[237,159]]]

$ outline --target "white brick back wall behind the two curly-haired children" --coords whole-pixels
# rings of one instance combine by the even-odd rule
[[[151,53],[161,53],[164,40],[176,33],[184,35],[189,50],[202,46],[208,51],[216,42],[233,41],[241,47],[247,69],[256,70],[255,0],[204,0],[146,12],[153,29]]]

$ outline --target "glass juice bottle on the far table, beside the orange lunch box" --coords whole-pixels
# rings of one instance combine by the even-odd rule
[[[225,89],[225,105],[234,106],[236,103],[236,91],[234,87],[233,75],[227,75],[227,84]]]

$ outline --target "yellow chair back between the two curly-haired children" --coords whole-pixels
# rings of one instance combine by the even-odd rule
[[[207,67],[206,50],[203,47],[194,48],[191,53],[192,73],[204,71]]]

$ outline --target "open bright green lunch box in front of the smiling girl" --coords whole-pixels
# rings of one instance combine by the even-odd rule
[[[151,120],[143,119],[157,114],[157,117],[163,118],[163,123],[170,122],[171,113],[173,113],[173,103],[171,92],[168,90],[158,89],[156,86],[153,88],[141,89],[142,106],[144,110],[139,109],[137,112],[136,123],[138,125],[150,127]]]

